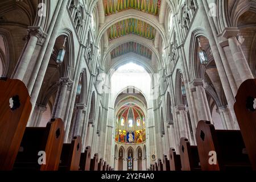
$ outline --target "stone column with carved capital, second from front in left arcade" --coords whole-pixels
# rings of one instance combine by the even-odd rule
[[[52,118],[61,118],[62,116],[62,111],[63,111],[63,106],[64,106],[64,101],[66,98],[66,93],[68,86],[72,84],[72,81],[69,78],[60,78],[60,81],[58,82],[58,92],[59,92],[59,97],[56,98],[55,100],[55,113],[52,113]],[[64,118],[61,118],[64,119]]]

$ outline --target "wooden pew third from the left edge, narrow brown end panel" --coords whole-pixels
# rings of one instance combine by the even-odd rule
[[[81,156],[81,137],[74,137],[71,143],[64,143],[60,156],[59,170],[78,171]]]

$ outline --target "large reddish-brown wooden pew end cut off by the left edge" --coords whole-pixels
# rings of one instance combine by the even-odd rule
[[[20,80],[0,78],[0,88],[0,171],[2,171],[13,169],[30,117],[31,103],[26,85]]]

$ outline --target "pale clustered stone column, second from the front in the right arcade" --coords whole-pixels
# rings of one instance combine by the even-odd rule
[[[205,94],[205,84],[202,79],[194,79],[191,82],[191,92],[193,93],[193,97],[196,103],[196,113],[197,113],[197,118],[198,121],[201,120],[207,120],[212,123],[212,116],[210,115],[210,109],[207,101],[207,97]]]

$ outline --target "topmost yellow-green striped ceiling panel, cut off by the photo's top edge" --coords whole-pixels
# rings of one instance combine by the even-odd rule
[[[112,15],[127,9],[135,9],[159,15],[161,0],[103,0],[105,15]]]

